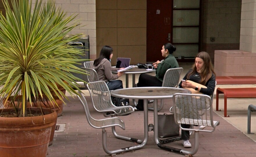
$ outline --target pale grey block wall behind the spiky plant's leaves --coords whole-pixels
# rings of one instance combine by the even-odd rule
[[[33,3],[35,0],[33,0]],[[70,34],[90,36],[90,58],[96,56],[96,0],[55,0],[56,6],[61,7],[68,15],[77,14],[80,25]]]

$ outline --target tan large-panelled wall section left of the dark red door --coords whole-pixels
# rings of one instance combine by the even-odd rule
[[[117,57],[131,58],[131,64],[145,63],[146,9],[146,0],[96,0],[97,56],[102,46],[109,45],[112,65]]]

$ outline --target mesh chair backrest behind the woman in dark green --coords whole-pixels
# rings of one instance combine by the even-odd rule
[[[177,87],[182,71],[182,67],[168,69],[164,74],[162,87]]]

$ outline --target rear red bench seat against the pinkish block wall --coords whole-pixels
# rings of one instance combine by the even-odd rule
[[[256,76],[216,76],[217,85],[256,84]]]

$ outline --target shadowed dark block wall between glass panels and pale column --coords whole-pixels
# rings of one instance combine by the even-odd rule
[[[201,49],[214,61],[214,50],[239,50],[241,0],[203,0]],[[210,38],[214,37],[215,41]]]

